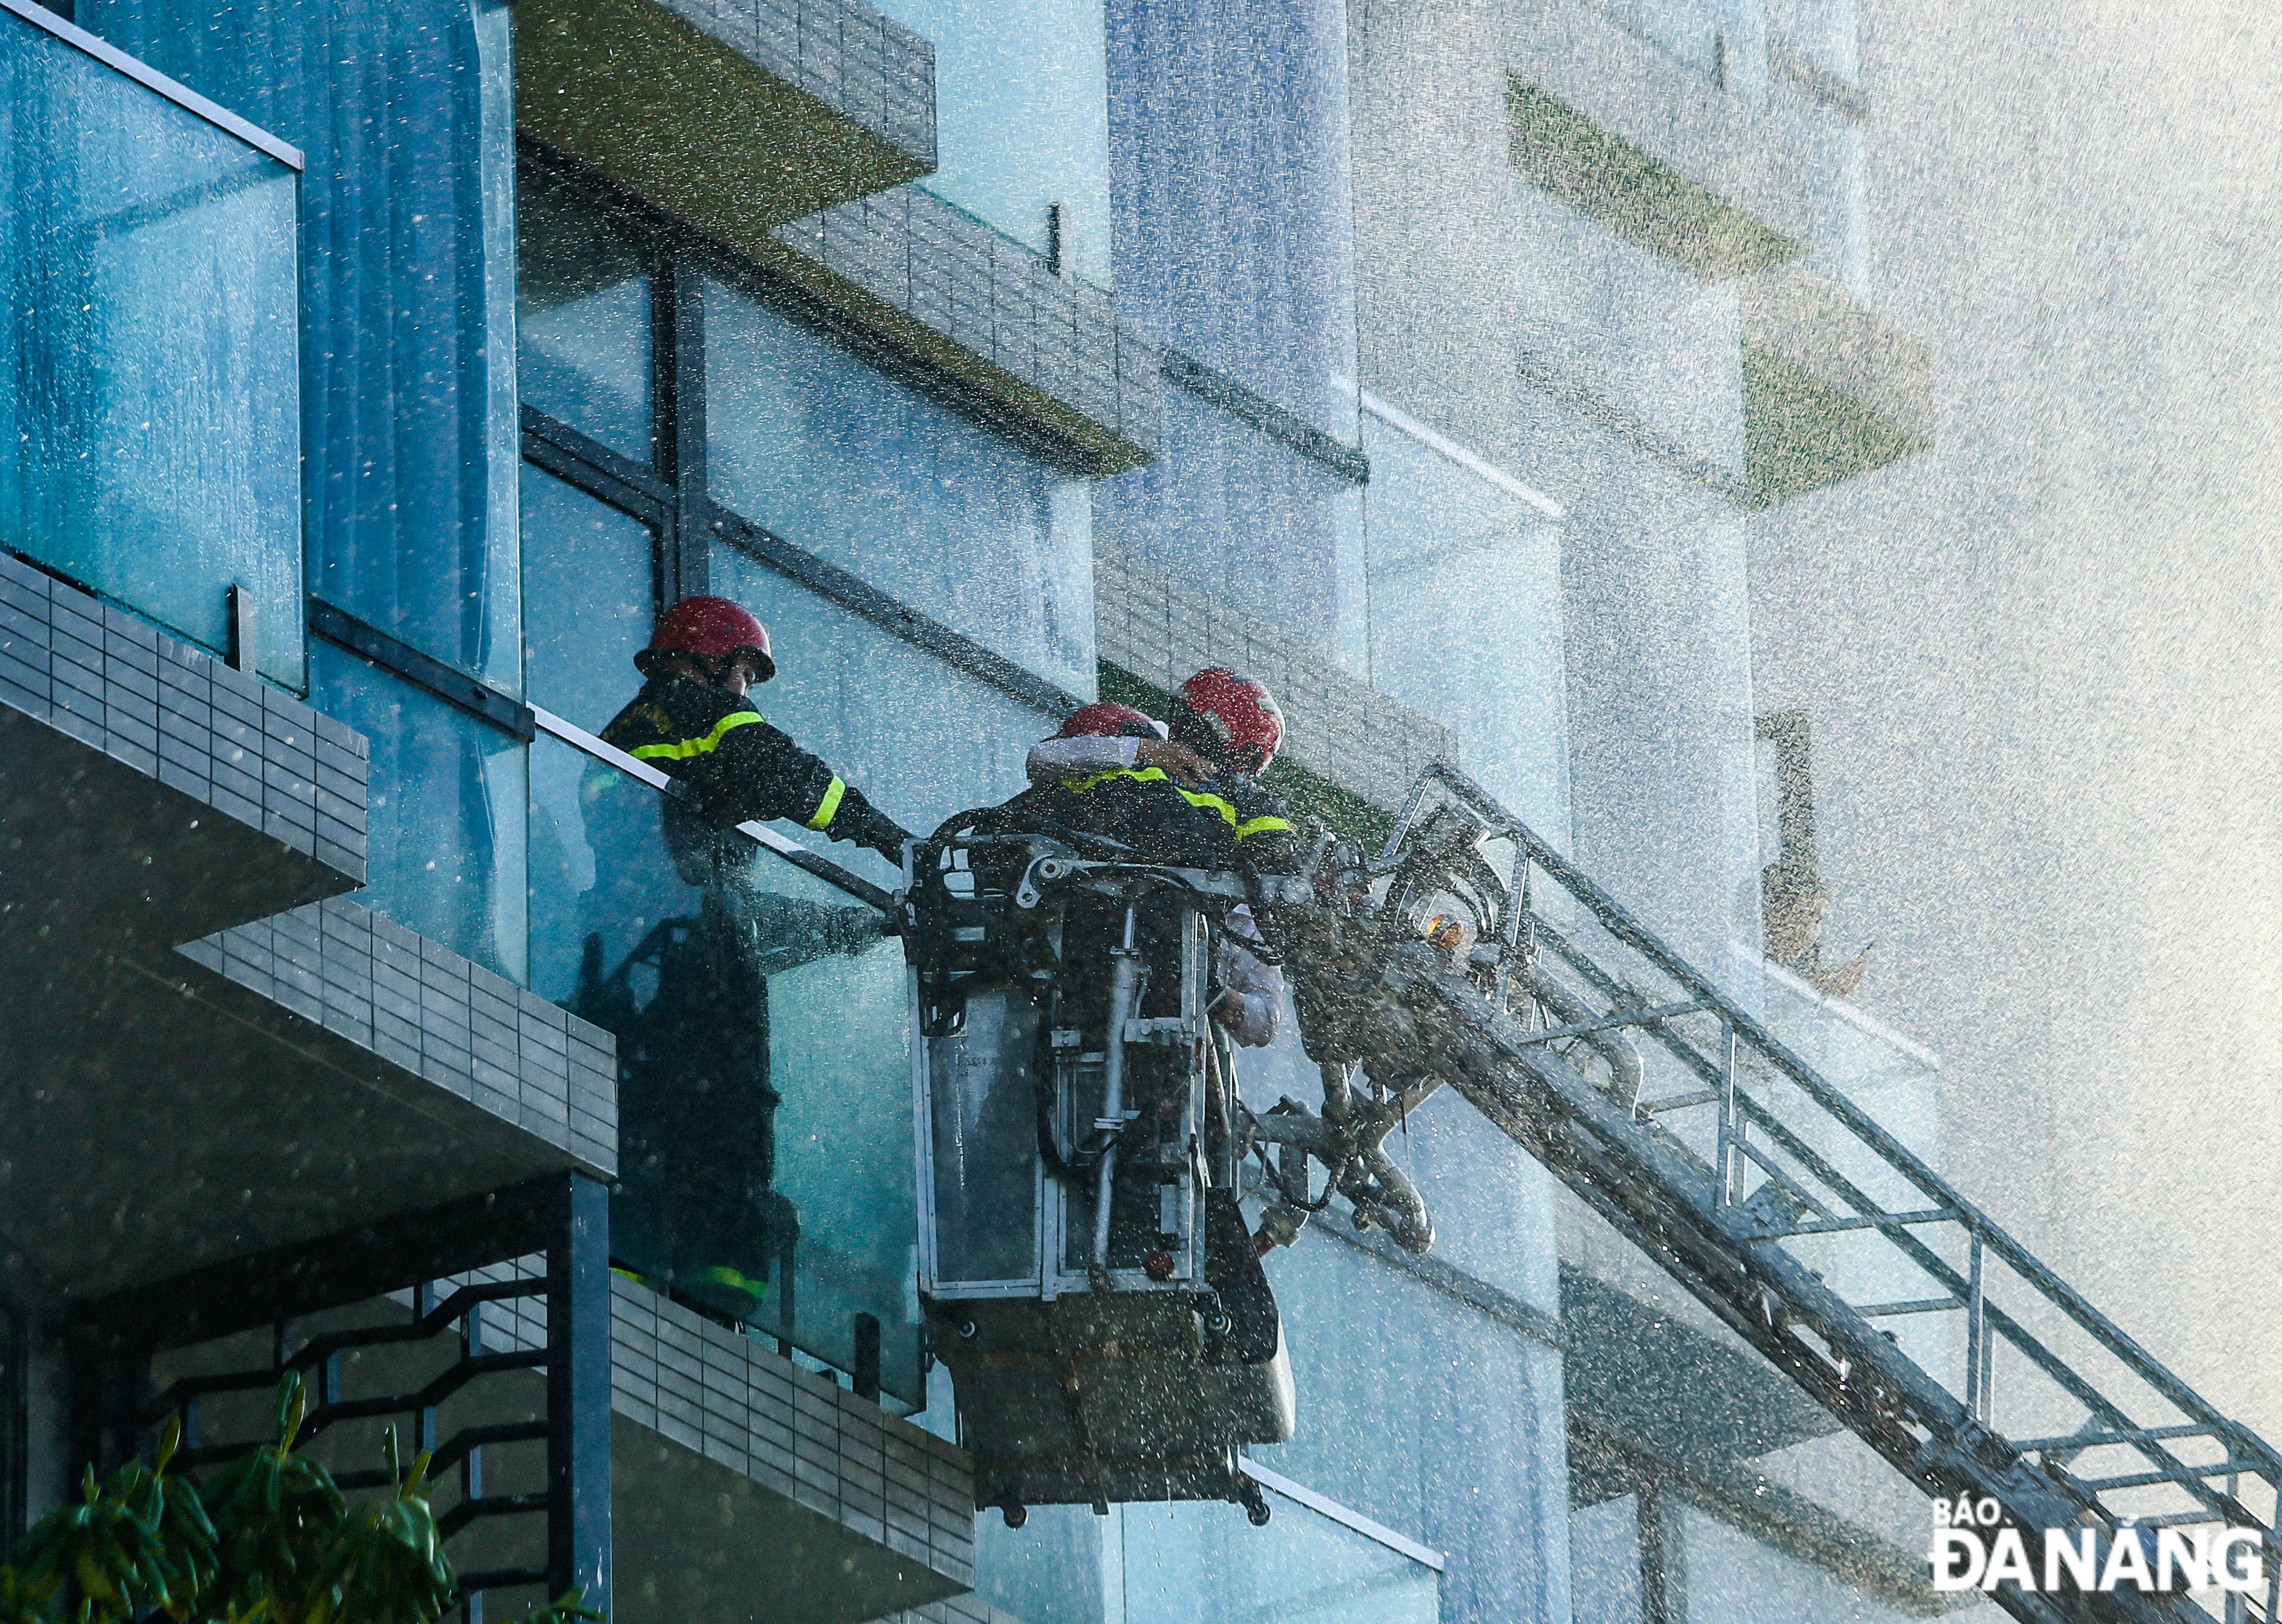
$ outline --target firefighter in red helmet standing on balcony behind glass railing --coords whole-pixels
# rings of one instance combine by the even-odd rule
[[[634,665],[644,688],[602,740],[691,795],[659,806],[644,786],[598,770],[589,820],[612,809],[659,820],[648,825],[650,850],[662,836],[673,875],[696,893],[696,916],[657,918],[609,973],[598,941],[589,943],[580,1014],[618,1035],[612,1252],[730,1318],[758,1320],[771,1263],[790,1284],[799,1236],[799,1215],[771,1188],[769,975],[863,952],[881,920],[867,907],[778,895],[762,868],[769,859],[735,825],[780,818],[897,863],[906,834],[753,708],[748,692],[776,676],[776,660],[767,628],[739,605],[682,598]],[[655,866],[623,838],[607,845]],[[644,1000],[637,987],[655,991]]]

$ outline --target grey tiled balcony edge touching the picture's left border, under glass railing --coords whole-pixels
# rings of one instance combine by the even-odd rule
[[[0,553],[0,704],[365,882],[365,740]]]

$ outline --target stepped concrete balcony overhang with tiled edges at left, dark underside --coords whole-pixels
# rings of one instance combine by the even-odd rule
[[[616,1048],[342,900],[365,742],[0,555],[0,1233],[68,1295],[616,1165]]]

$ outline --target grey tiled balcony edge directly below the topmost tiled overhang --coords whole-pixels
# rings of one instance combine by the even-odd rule
[[[1020,242],[915,185],[794,219],[774,235],[1020,384],[1155,455],[1157,347],[1118,322],[1100,288],[1057,276]]]

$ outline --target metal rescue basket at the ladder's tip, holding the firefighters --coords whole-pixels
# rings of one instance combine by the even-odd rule
[[[920,1293],[974,1501],[1228,1498],[1292,1437],[1292,1366],[1237,1206],[1212,932],[1257,877],[954,818],[913,845],[904,943]],[[1296,884],[1296,882],[1289,882]]]

